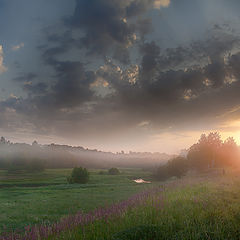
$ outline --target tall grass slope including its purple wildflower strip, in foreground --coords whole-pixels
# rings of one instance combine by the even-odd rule
[[[216,178],[197,184],[176,181],[88,214],[69,216],[52,226],[26,229],[24,238],[3,239],[113,240],[121,239],[114,238],[117,233],[126,229],[134,232],[137,226],[154,226],[156,240],[237,240],[239,179]],[[141,240],[134,234],[131,239]]]

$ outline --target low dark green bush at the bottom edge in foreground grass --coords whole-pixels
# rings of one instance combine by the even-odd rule
[[[160,229],[156,226],[138,226],[117,233],[112,240],[150,240],[161,239]]]

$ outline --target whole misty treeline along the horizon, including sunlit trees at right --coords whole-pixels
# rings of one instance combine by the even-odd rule
[[[42,171],[45,168],[144,168],[158,169],[160,178],[181,176],[189,170],[205,171],[212,168],[240,166],[240,147],[232,137],[225,141],[218,132],[203,134],[196,144],[182,151],[180,156],[165,153],[112,153],[72,147],[11,143],[0,139],[0,169],[8,172]]]

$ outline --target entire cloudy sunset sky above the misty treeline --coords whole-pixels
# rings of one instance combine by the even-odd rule
[[[239,0],[0,0],[0,135],[177,153],[240,144]]]

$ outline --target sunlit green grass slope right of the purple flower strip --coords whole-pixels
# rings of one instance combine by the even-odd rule
[[[239,240],[240,178],[188,178],[153,191],[138,206],[50,239]]]

